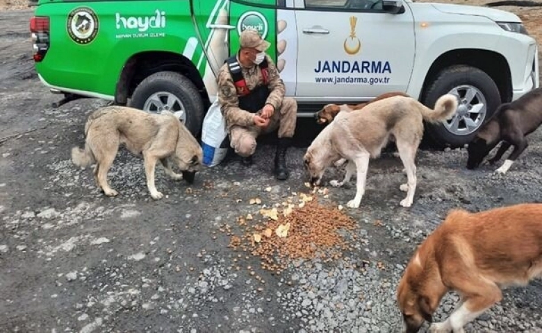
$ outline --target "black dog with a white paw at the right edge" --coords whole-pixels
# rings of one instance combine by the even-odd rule
[[[479,166],[488,153],[500,142],[502,145],[491,159],[494,164],[510,148],[514,151],[504,161],[498,173],[507,173],[516,158],[527,148],[525,137],[534,132],[542,123],[542,88],[533,89],[514,102],[504,103],[468,144],[467,169]]]

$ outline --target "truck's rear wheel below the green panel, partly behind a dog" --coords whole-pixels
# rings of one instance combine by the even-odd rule
[[[129,105],[148,112],[170,110],[193,135],[202,127],[204,104],[192,81],[174,71],[147,76],[133,91]]]

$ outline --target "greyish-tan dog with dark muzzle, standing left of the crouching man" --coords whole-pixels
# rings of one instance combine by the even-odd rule
[[[84,150],[72,148],[72,162],[79,167],[96,162],[94,177],[106,196],[117,195],[108,185],[107,172],[120,144],[145,160],[147,187],[154,199],[163,198],[154,185],[158,160],[168,176],[175,180],[185,178],[188,182],[194,181],[202,163],[202,147],[171,112],[151,114],[134,108],[107,106],[90,114],[85,123],[85,137]],[[170,162],[183,171],[182,175],[171,169]]]

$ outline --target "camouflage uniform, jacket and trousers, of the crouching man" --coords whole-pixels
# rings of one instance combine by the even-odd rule
[[[270,133],[278,128],[279,138],[291,138],[295,131],[297,103],[295,99],[284,97],[286,88],[279,76],[279,71],[269,56],[265,55],[265,58],[268,61],[268,88],[270,91],[265,104],[274,107],[270,123],[265,129],[254,125],[254,113],[239,108],[238,92],[233,84],[227,64],[220,68],[217,76],[218,101],[226,119],[231,147],[243,157],[254,154],[258,135]],[[242,71],[249,90],[252,91],[254,87],[263,85],[264,81],[258,65],[242,66]]]

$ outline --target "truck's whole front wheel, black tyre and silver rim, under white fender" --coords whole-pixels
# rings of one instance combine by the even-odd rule
[[[440,146],[468,144],[501,103],[493,79],[484,71],[466,65],[443,69],[428,87],[422,103],[429,108],[433,108],[443,94],[453,94],[459,101],[452,119],[426,126],[429,137]]]

